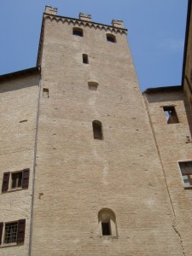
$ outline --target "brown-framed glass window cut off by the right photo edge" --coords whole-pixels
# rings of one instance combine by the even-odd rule
[[[192,161],[178,163],[185,187],[192,186]]]

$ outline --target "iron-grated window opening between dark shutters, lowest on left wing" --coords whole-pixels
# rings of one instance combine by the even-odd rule
[[[9,244],[17,241],[18,222],[5,224],[4,243]]]

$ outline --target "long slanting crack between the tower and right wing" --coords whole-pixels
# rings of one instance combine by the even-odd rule
[[[149,113],[149,109],[148,109],[148,102],[147,102],[147,98],[146,98],[145,95],[143,95],[143,99],[144,99],[144,104],[145,104],[145,107],[146,107],[146,111],[147,111],[147,113],[148,113],[148,121],[149,121],[149,125],[150,125],[150,127],[151,127],[151,131],[152,131],[152,133],[153,133],[154,143],[155,143],[155,146],[156,146],[156,148],[157,148],[157,153],[158,153],[159,158],[160,158],[160,166],[161,166],[161,168],[162,168],[163,176],[164,176],[164,178],[165,178],[166,190],[167,190],[167,193],[168,193],[168,195],[169,195],[169,200],[170,200],[171,206],[172,206],[172,213],[173,213],[173,215],[174,215],[174,220],[173,220],[172,227],[173,227],[173,229],[175,230],[175,232],[177,233],[177,236],[179,237],[180,245],[181,245],[181,247],[182,247],[182,252],[183,252],[183,255],[185,255],[185,253],[184,253],[184,247],[183,247],[183,241],[182,241],[182,236],[181,236],[181,234],[179,233],[179,231],[178,231],[177,228],[176,228],[176,226],[177,226],[177,224],[178,224],[178,223],[175,224],[175,223],[176,223],[176,213],[175,213],[174,207],[173,207],[173,205],[172,205],[172,198],[171,198],[170,191],[169,191],[169,187],[168,187],[168,184],[167,184],[167,181],[166,181],[166,172],[165,172],[165,169],[164,169],[164,166],[163,166],[163,161],[162,161],[162,159],[161,159],[160,148],[159,148],[159,146],[158,146],[157,139],[156,139],[156,136],[155,136],[154,127],[153,127],[153,125],[152,125],[152,120],[151,120],[150,113]]]

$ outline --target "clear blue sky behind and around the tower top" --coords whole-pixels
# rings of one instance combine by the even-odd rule
[[[0,9],[0,74],[36,66],[45,5],[107,25],[123,20],[141,90],[181,84],[187,0],[4,0]]]

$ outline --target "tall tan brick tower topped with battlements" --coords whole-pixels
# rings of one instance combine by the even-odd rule
[[[38,55],[32,255],[181,255],[122,21],[56,12]]]

